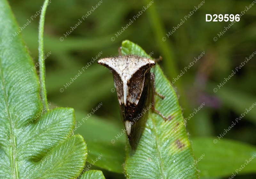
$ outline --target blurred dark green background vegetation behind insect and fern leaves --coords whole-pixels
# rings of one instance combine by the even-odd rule
[[[118,144],[117,142],[113,144],[118,151],[106,149],[102,145],[102,142],[111,145],[111,139],[116,140],[115,136],[123,128],[112,74],[106,68],[99,66],[96,60],[84,71],[81,69],[100,52],[102,54],[97,59],[118,55],[118,48],[125,39],[140,45],[148,54],[151,53],[153,58],[162,56],[163,60],[159,64],[170,81],[173,80],[172,78],[177,78],[180,70],[184,71],[195,57],[197,58],[202,52],[205,53],[172,85],[179,95],[184,118],[205,103],[205,107],[187,122],[186,128],[192,141],[192,148],[193,139],[198,137],[213,137],[212,143],[214,138],[219,141],[217,136],[220,136],[224,129],[228,129],[232,121],[244,113],[246,108],[249,109],[252,103],[256,102],[256,57],[239,69],[223,87],[217,86],[256,50],[256,5],[245,12],[240,21],[220,37],[217,34],[220,34],[230,21],[205,21],[205,14],[240,14],[245,6],[249,7],[252,4],[252,1],[205,1],[169,37],[166,34],[173,27],[177,27],[181,19],[184,20],[184,17],[195,9],[194,6],[198,6],[202,1],[153,1],[153,5],[136,20],[132,19],[149,2],[149,0],[102,0],[102,3],[88,15],[87,12],[99,3],[98,0],[52,0],[46,12],[44,51],[45,54],[51,52],[46,59],[48,101],[55,106],[74,108],[77,121],[81,121],[91,113],[92,109],[102,103],[100,110],[93,114],[91,120],[87,120],[86,125],[77,128],[76,133],[79,132],[84,137],[89,150],[90,141],[101,141],[99,146],[95,147],[109,150],[116,155],[116,160],[120,160],[119,162],[124,160],[122,156],[124,156],[125,136],[118,139]],[[10,0],[9,3],[19,26],[23,27],[28,20],[31,20],[30,17],[40,10],[43,0]],[[86,14],[87,17],[82,20],[82,16]],[[75,27],[79,19],[82,21],[80,25],[65,36],[64,34],[70,32],[71,27]],[[132,24],[116,36],[115,34],[121,32],[122,27],[129,24],[130,19],[133,20]],[[39,16],[36,16],[21,31],[35,63],[38,59],[38,23]],[[112,37],[115,38],[114,41]],[[166,37],[165,41],[163,37]],[[217,41],[213,40],[214,37],[217,37]],[[70,82],[70,78],[75,78],[79,70],[82,74],[67,86],[66,83]],[[67,87],[65,88],[64,85]],[[213,91],[214,88],[217,88],[217,92]],[[255,124],[256,108],[253,108],[228,131],[224,138],[255,146]],[[240,150],[243,151],[243,148]],[[98,155],[91,154],[91,160]],[[237,157],[238,155],[237,153]],[[201,154],[198,157],[200,156]],[[90,152],[88,157],[90,159]],[[248,159],[244,158],[244,161]],[[97,167],[93,166],[90,169],[94,168]],[[108,170],[114,172],[103,170],[106,178],[124,178],[123,174],[117,174],[121,173],[122,166],[116,170],[110,168]],[[200,166],[198,168],[200,169]],[[256,178],[256,175],[248,173],[236,175],[236,178]],[[202,178],[208,176],[205,173],[200,175]],[[212,175],[212,178],[228,178],[231,175],[232,173],[215,177]]]

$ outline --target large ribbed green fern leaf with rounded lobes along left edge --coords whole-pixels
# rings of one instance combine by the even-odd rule
[[[74,110],[42,115],[51,103],[42,105],[35,65],[7,1],[0,9],[0,178],[76,178],[87,148],[82,136],[70,137]]]

